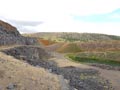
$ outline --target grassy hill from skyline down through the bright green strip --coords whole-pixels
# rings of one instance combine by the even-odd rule
[[[120,36],[95,33],[35,33],[26,35],[47,40],[47,49],[69,54],[73,60],[120,65]],[[57,43],[48,44],[49,41]],[[43,43],[43,41],[42,41]]]

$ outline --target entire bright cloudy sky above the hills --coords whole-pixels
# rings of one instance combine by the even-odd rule
[[[0,0],[0,19],[21,33],[80,32],[120,36],[119,0]]]

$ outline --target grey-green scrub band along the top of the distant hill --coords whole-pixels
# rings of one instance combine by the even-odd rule
[[[110,41],[110,40],[120,40],[119,36],[105,35],[105,34],[95,34],[95,33],[63,33],[60,38],[65,41]]]

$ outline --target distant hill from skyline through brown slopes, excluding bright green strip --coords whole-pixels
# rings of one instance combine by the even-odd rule
[[[95,33],[41,32],[25,36],[40,38],[50,51],[77,53],[81,51],[120,51],[120,36]],[[41,41],[40,41],[41,42]],[[43,42],[42,42],[43,43]],[[52,45],[53,44],[53,45]]]

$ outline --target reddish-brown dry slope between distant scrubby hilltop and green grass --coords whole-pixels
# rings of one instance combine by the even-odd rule
[[[94,41],[94,42],[62,42],[47,46],[48,50],[58,51],[61,53],[76,53],[81,51],[89,52],[106,52],[120,51],[120,41]]]

